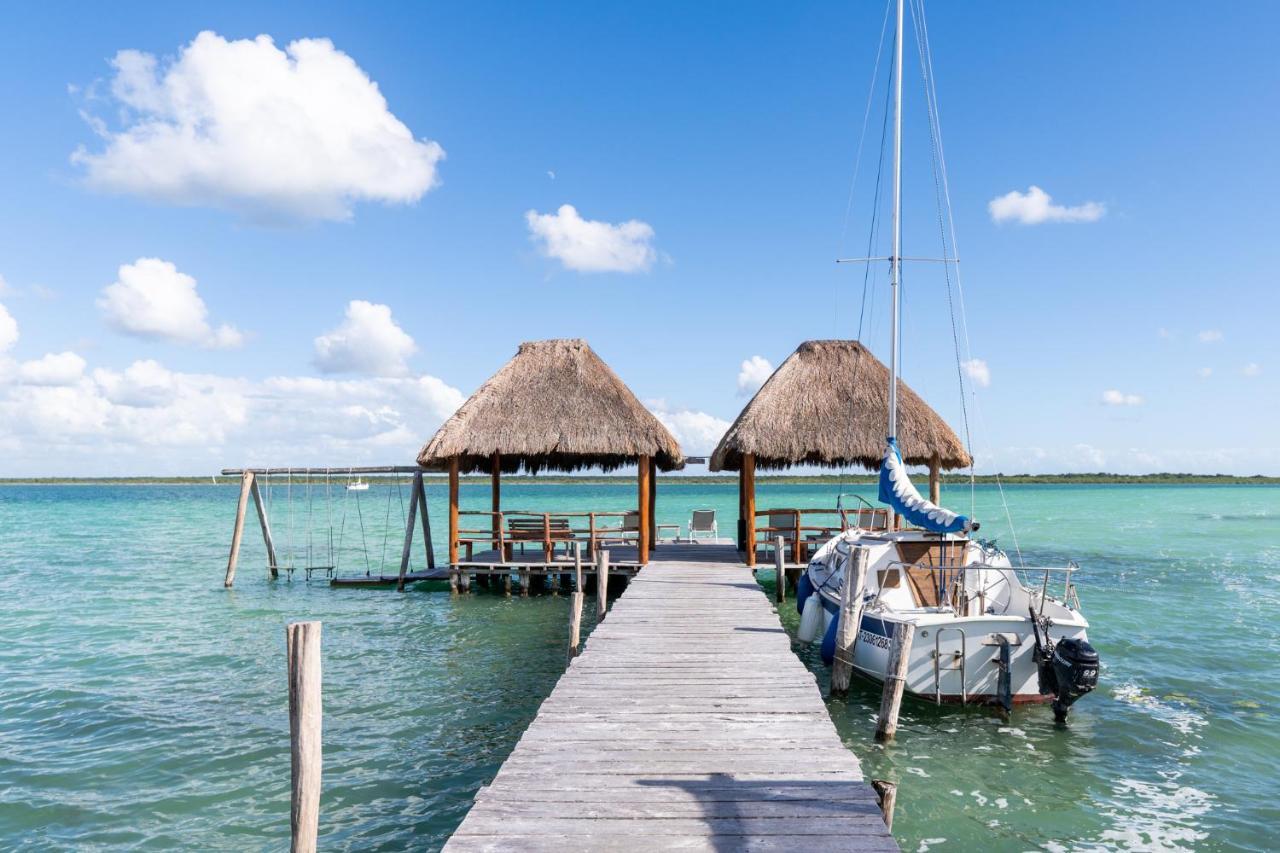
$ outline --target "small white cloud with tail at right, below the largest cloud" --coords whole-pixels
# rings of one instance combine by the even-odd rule
[[[140,338],[202,347],[237,347],[244,339],[230,325],[210,327],[196,279],[159,257],[123,264],[97,306],[111,328]]]

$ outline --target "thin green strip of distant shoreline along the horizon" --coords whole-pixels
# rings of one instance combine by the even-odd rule
[[[212,485],[216,479],[218,485],[234,485],[239,483],[238,476],[9,476],[0,478],[0,485]],[[271,478],[279,483],[285,478],[274,475]],[[296,482],[305,482],[305,478],[293,478]],[[367,478],[376,483],[378,476]],[[440,485],[444,483],[443,474],[428,474],[428,483]],[[463,476],[463,485],[488,485],[488,476]],[[736,475],[710,474],[710,475],[675,475],[658,476],[663,485],[728,485],[736,484]],[[315,479],[323,482],[321,478]],[[334,485],[342,483],[340,475],[332,478]],[[1280,476],[1265,476],[1254,474],[1252,476],[1235,476],[1231,474],[984,474],[975,476],[978,485],[995,485],[997,482],[1004,485],[1280,485]],[[567,476],[564,474],[549,474],[544,476],[508,475],[502,480],[503,485],[618,485],[631,484],[630,475],[581,475]],[[874,475],[858,474],[841,476],[838,474],[760,474],[756,483],[762,485],[874,485]],[[968,476],[943,475],[942,484],[956,487],[969,483]]]

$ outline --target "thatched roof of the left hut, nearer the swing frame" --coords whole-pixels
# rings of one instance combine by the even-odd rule
[[[684,466],[680,444],[631,393],[586,341],[531,341],[462,403],[417,455],[439,467],[453,456],[460,470],[524,467],[613,470],[652,456],[662,470]]]

